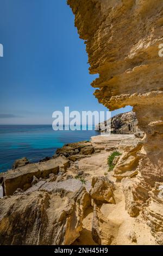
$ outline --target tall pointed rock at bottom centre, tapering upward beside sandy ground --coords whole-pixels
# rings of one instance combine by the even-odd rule
[[[117,226],[105,218],[97,207],[94,205],[92,220],[92,238],[97,245],[110,245],[117,233]]]

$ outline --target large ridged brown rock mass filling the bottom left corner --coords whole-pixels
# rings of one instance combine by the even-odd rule
[[[85,188],[75,194],[36,191],[0,200],[1,245],[71,245],[90,202]]]

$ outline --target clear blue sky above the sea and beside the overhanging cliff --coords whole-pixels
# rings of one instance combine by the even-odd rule
[[[0,44],[0,124],[52,124],[65,106],[105,110],[66,0],[0,0]]]

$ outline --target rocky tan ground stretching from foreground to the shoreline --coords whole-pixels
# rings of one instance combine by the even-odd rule
[[[0,176],[1,245],[160,243],[156,188],[142,207],[133,190],[139,183],[140,148],[141,138],[134,135],[99,135],[90,142],[66,144],[50,160],[16,161]],[[121,155],[108,171],[108,157],[115,151]]]

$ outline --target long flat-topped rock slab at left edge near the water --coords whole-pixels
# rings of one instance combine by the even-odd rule
[[[51,173],[57,174],[60,170],[65,172],[70,162],[66,157],[58,157],[57,159],[47,162],[29,163],[26,166],[9,170],[0,174],[0,179],[4,181],[4,192],[6,196],[12,195],[17,188],[27,190],[32,186],[33,176],[37,179],[48,178]]]

